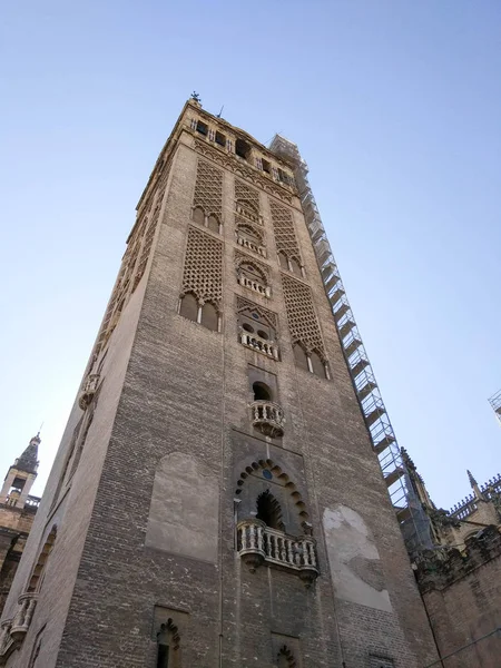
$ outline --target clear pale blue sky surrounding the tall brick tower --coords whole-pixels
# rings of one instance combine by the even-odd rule
[[[183,104],[296,141],[400,444],[439,505],[501,470],[501,3],[2,8],[0,472],[41,493]],[[333,429],[335,425],[333,424]]]

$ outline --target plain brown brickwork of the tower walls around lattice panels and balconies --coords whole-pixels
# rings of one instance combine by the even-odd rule
[[[76,403],[7,602],[4,618],[57,525],[30,629],[7,665],[29,666],[43,629],[36,668],[155,668],[160,610],[178,629],[184,668],[272,668],[284,638],[296,666],[305,668],[369,668],[371,655],[399,668],[424,666],[436,657],[425,610],[291,189],[259,188],[267,249],[267,259],[259,259],[273,286],[266,299],[237,283],[234,265],[234,178],[246,178],[249,168],[235,157],[217,163],[224,167],[223,232],[215,235],[224,240],[222,331],[178,315],[197,161],[219,150],[200,156],[200,139],[190,129],[199,115],[229,136],[243,135],[188,104],[167,144],[176,153],[160,225],[147,271],[109,338],[79,466],[51,509],[81,416]],[[281,193],[289,199],[330,381],[294,362],[269,213]],[[284,205],[284,198],[277,202]],[[281,361],[239,343],[237,295],[278,314]],[[276,379],[276,401],[286,415],[283,439],[252,428],[249,365]],[[236,483],[243,466],[259,459],[286,471],[304,499],[321,570],[310,589],[293,572],[262,566],[253,573],[236,552],[235,522],[243,512],[234,501]],[[155,485],[170,493],[158,494]],[[348,519],[330,524],[327,534],[326,517]],[[170,543],[169,531],[176,532]],[[346,557],[340,561],[347,573],[343,587],[331,563],[340,553]]]

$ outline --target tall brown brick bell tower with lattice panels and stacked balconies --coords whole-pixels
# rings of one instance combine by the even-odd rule
[[[435,660],[387,494],[403,463],[383,478],[394,436],[352,382],[295,169],[185,105],[7,601],[7,666]]]

